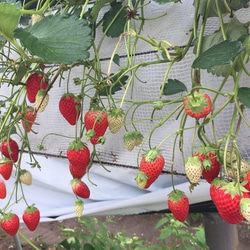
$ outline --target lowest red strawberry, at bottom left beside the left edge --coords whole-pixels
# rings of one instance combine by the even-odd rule
[[[19,229],[19,217],[13,213],[5,214],[1,227],[7,234],[14,236]]]

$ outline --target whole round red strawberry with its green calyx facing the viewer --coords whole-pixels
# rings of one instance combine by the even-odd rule
[[[193,95],[190,94],[185,98],[184,109],[193,118],[203,118],[212,110],[211,99],[204,92],[195,91]]]

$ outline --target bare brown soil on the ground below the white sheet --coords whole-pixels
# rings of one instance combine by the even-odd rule
[[[147,239],[148,243],[159,243],[159,231],[155,230],[157,222],[164,216],[163,213],[152,213],[142,215],[128,215],[128,216],[113,216],[112,220],[116,223],[106,224],[107,229],[113,233],[122,232],[128,230],[128,236],[137,235],[140,238]],[[105,221],[105,217],[97,217],[98,220]],[[194,220],[193,214],[188,216],[188,222],[190,226],[204,225],[204,217],[200,217],[198,220]],[[64,235],[61,234],[59,228],[75,228],[78,221],[76,218],[67,219],[63,221],[42,222],[38,225],[34,232],[30,232],[24,224],[20,225],[20,232],[25,235],[32,243],[34,243],[39,249],[52,250],[55,249],[55,244],[62,241]],[[235,225],[237,227],[237,247],[235,250],[247,250],[250,244],[250,232],[247,232],[250,228],[249,223],[243,221],[242,223]],[[229,236],[230,237],[230,236]],[[34,249],[27,242],[25,242],[20,236],[18,238],[21,242],[23,250]],[[14,238],[8,236],[0,229],[0,249],[17,249]],[[232,248],[234,249],[234,248]],[[212,249],[215,250],[215,249]],[[219,249],[221,250],[221,249]]]

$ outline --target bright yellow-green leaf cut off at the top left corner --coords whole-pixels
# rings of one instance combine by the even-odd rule
[[[12,40],[20,15],[16,4],[0,3],[0,34]]]

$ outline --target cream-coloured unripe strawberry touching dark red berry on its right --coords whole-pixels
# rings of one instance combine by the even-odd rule
[[[202,162],[198,156],[189,156],[185,163],[185,172],[191,183],[198,183],[202,175]]]

